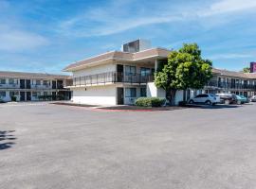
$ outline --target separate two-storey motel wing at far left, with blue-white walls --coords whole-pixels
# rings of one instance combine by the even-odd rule
[[[39,96],[51,95],[54,100],[62,95],[68,100],[71,94],[64,86],[71,81],[64,75],[0,71],[0,99],[8,102],[15,96],[17,101],[37,101]]]

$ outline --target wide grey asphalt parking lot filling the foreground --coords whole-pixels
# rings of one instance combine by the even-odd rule
[[[0,188],[255,189],[255,112],[0,105]]]

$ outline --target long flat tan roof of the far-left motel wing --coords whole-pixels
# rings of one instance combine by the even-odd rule
[[[45,79],[68,79],[70,76],[66,75],[54,75],[46,73],[30,73],[30,72],[9,72],[0,71],[0,77],[9,78],[45,78]]]

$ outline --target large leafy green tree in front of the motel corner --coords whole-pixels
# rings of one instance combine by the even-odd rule
[[[173,51],[167,61],[159,62],[155,73],[155,86],[166,91],[166,98],[174,105],[176,91],[202,89],[212,77],[211,61],[201,58],[196,43],[184,43]]]

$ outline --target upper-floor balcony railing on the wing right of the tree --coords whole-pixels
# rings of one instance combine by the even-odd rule
[[[220,82],[211,80],[206,87],[221,88],[221,89],[244,89],[244,90],[256,90],[256,85],[249,83],[232,83],[232,82]]]

